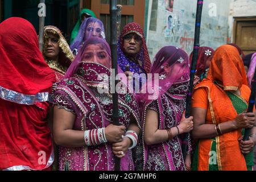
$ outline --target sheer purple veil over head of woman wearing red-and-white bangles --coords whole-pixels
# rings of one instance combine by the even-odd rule
[[[64,78],[69,78],[69,77],[72,77],[73,75],[75,75],[75,73],[77,72],[77,68],[79,67],[80,63],[82,63],[82,61],[86,61],[84,59],[86,48],[91,44],[99,45],[99,48],[102,49],[102,51],[106,52],[106,55],[108,56],[108,59],[106,59],[105,63],[100,63],[100,64],[102,64],[105,67],[110,69],[110,67],[111,67],[111,51],[110,51],[109,44],[106,42],[105,39],[93,36],[93,37],[91,37],[91,38],[89,38],[85,41],[81,50],[79,51],[79,53],[75,57],[75,60],[73,60],[71,66],[68,68],[67,73],[65,74]],[[97,50],[95,50],[95,51],[97,51]],[[98,60],[93,60],[93,62],[94,63],[99,63]]]

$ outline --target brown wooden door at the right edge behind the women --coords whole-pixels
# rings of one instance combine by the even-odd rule
[[[234,22],[234,43],[245,55],[256,52],[256,18],[236,18]]]

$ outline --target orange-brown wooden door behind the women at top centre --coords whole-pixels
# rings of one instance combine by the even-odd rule
[[[106,39],[110,40],[110,0],[92,0],[91,9],[96,14],[97,18],[104,23]],[[145,0],[118,0],[117,5],[122,5],[121,30],[130,22],[139,23],[144,27]]]

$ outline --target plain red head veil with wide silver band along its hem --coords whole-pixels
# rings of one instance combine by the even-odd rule
[[[0,68],[1,90],[30,96],[44,93],[34,102],[46,101],[46,93],[55,82],[55,74],[39,50],[35,28],[22,18],[9,18],[0,24]],[[6,94],[0,97],[19,103]]]

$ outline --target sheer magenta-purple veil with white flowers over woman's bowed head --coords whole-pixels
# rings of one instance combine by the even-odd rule
[[[170,92],[172,85],[175,83],[189,81],[189,58],[187,53],[174,46],[163,47],[156,54],[150,73],[152,75],[148,76],[141,94],[137,96],[137,99],[144,102],[144,104],[157,100],[166,92]],[[185,96],[178,94],[174,97],[185,98]]]

